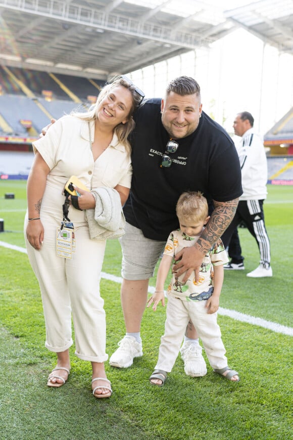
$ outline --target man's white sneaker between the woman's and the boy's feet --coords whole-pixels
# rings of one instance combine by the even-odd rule
[[[112,367],[127,368],[133,364],[133,358],[142,356],[142,343],[137,342],[133,336],[124,336],[118,342],[119,348],[113,353],[109,364]]]

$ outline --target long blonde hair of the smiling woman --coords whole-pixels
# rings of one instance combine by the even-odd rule
[[[127,78],[125,78],[124,76],[118,76],[118,77],[113,78],[111,83],[106,84],[103,87],[100,94],[97,96],[97,100],[96,100],[95,104],[90,106],[90,108],[87,112],[78,112],[78,111],[73,110],[70,114],[72,116],[76,116],[76,117],[83,119],[85,121],[95,121],[97,118],[97,108],[99,107],[100,103],[105,98],[105,96],[107,94],[109,94],[111,92],[111,90],[114,89],[114,87],[117,87],[118,85],[122,85],[123,87],[128,89],[129,92],[131,93],[132,106],[131,106],[131,109],[130,109],[129,114],[127,116],[127,118],[128,118],[127,121],[125,122],[125,124],[122,124],[122,122],[120,124],[118,124],[114,128],[114,133],[116,134],[119,142],[125,147],[125,150],[127,151],[127,153],[130,154],[131,146],[128,141],[128,136],[135,126],[135,122],[132,118],[132,115],[135,112],[135,110],[137,110],[137,108],[139,107],[139,104],[141,103],[141,100],[142,100],[141,95],[139,95],[136,92],[136,87],[130,80],[127,80]]]

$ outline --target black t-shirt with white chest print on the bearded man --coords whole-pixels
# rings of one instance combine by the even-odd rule
[[[135,114],[131,135],[133,175],[124,205],[128,223],[153,240],[166,240],[178,228],[176,203],[184,191],[201,191],[225,202],[242,194],[241,171],[233,141],[202,112],[197,129],[177,140],[170,168],[161,168],[170,136],[161,121],[161,99],[149,99]]]

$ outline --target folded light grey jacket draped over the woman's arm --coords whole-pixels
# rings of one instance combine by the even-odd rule
[[[124,235],[125,217],[118,191],[100,187],[92,190],[91,194],[95,199],[95,208],[85,210],[90,238],[104,240]]]

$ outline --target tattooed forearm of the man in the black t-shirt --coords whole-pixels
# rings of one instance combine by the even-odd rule
[[[213,202],[215,209],[212,212],[206,229],[198,240],[198,245],[200,245],[203,251],[204,249],[207,250],[208,244],[213,246],[232,222],[238,205],[238,198],[228,202],[217,202],[215,200]]]

